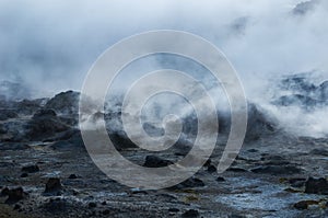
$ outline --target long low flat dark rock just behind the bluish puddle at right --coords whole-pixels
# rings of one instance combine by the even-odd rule
[[[262,173],[262,174],[295,174],[301,173],[302,170],[294,165],[261,165],[250,170],[254,173]]]

